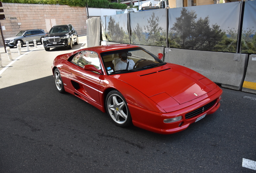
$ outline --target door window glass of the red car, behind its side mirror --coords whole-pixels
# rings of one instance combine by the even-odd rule
[[[81,66],[82,68],[85,65],[94,65],[95,68],[98,70],[101,69],[100,61],[99,61],[99,56],[96,52],[92,51],[83,51],[80,59],[78,60],[78,66]]]

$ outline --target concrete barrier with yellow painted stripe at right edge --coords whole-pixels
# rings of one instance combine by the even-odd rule
[[[256,54],[249,56],[242,91],[256,94]]]

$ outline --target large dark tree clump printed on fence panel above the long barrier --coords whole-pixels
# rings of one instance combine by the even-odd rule
[[[197,14],[194,10],[188,11],[182,8],[181,16],[169,31],[169,46],[193,50],[215,50],[215,45],[222,40],[225,32],[220,26],[209,25],[209,16],[196,20]]]

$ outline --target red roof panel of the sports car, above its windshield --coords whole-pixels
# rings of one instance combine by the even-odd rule
[[[109,52],[114,50],[121,50],[121,49],[127,49],[127,48],[136,48],[139,46],[135,46],[132,44],[109,44],[109,45],[103,45],[103,46],[95,46],[90,48],[85,48],[84,50],[91,50],[94,52]]]

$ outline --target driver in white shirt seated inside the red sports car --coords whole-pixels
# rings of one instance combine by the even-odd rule
[[[132,70],[135,65],[133,60],[127,59],[127,52],[118,53],[121,60],[116,64],[115,70]]]

